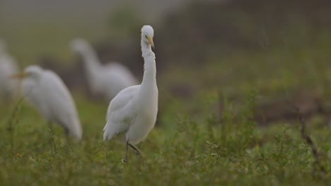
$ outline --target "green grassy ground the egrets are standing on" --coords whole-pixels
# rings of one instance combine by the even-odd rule
[[[66,143],[54,126],[54,142],[46,121],[23,102],[1,107],[1,185],[327,185],[315,170],[314,156],[300,136],[300,126],[281,123],[259,128],[250,118],[256,92],[246,97],[240,120],[231,118],[228,102],[219,123],[205,101],[203,117],[181,111],[171,101],[159,124],[138,145],[142,157],[129,151],[123,163],[124,142],[103,142],[107,104],[76,95],[84,130],[83,141]],[[171,106],[172,105],[172,106]],[[15,109],[16,108],[16,109]],[[331,171],[331,131],[316,119],[308,128],[321,161]]]

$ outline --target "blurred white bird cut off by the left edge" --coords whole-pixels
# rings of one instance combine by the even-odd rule
[[[0,99],[8,101],[18,94],[18,81],[11,80],[11,75],[18,73],[14,58],[6,52],[6,44],[0,40]]]

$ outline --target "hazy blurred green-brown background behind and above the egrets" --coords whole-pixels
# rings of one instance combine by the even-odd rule
[[[161,109],[173,99],[194,101],[182,104],[192,112],[206,97],[240,103],[257,89],[262,107],[284,118],[284,99],[310,115],[329,108],[330,8],[327,0],[1,0],[0,37],[21,68],[52,69],[81,94],[88,91],[71,39],[88,39],[103,63],[120,61],[141,80],[139,35],[150,24]]]

